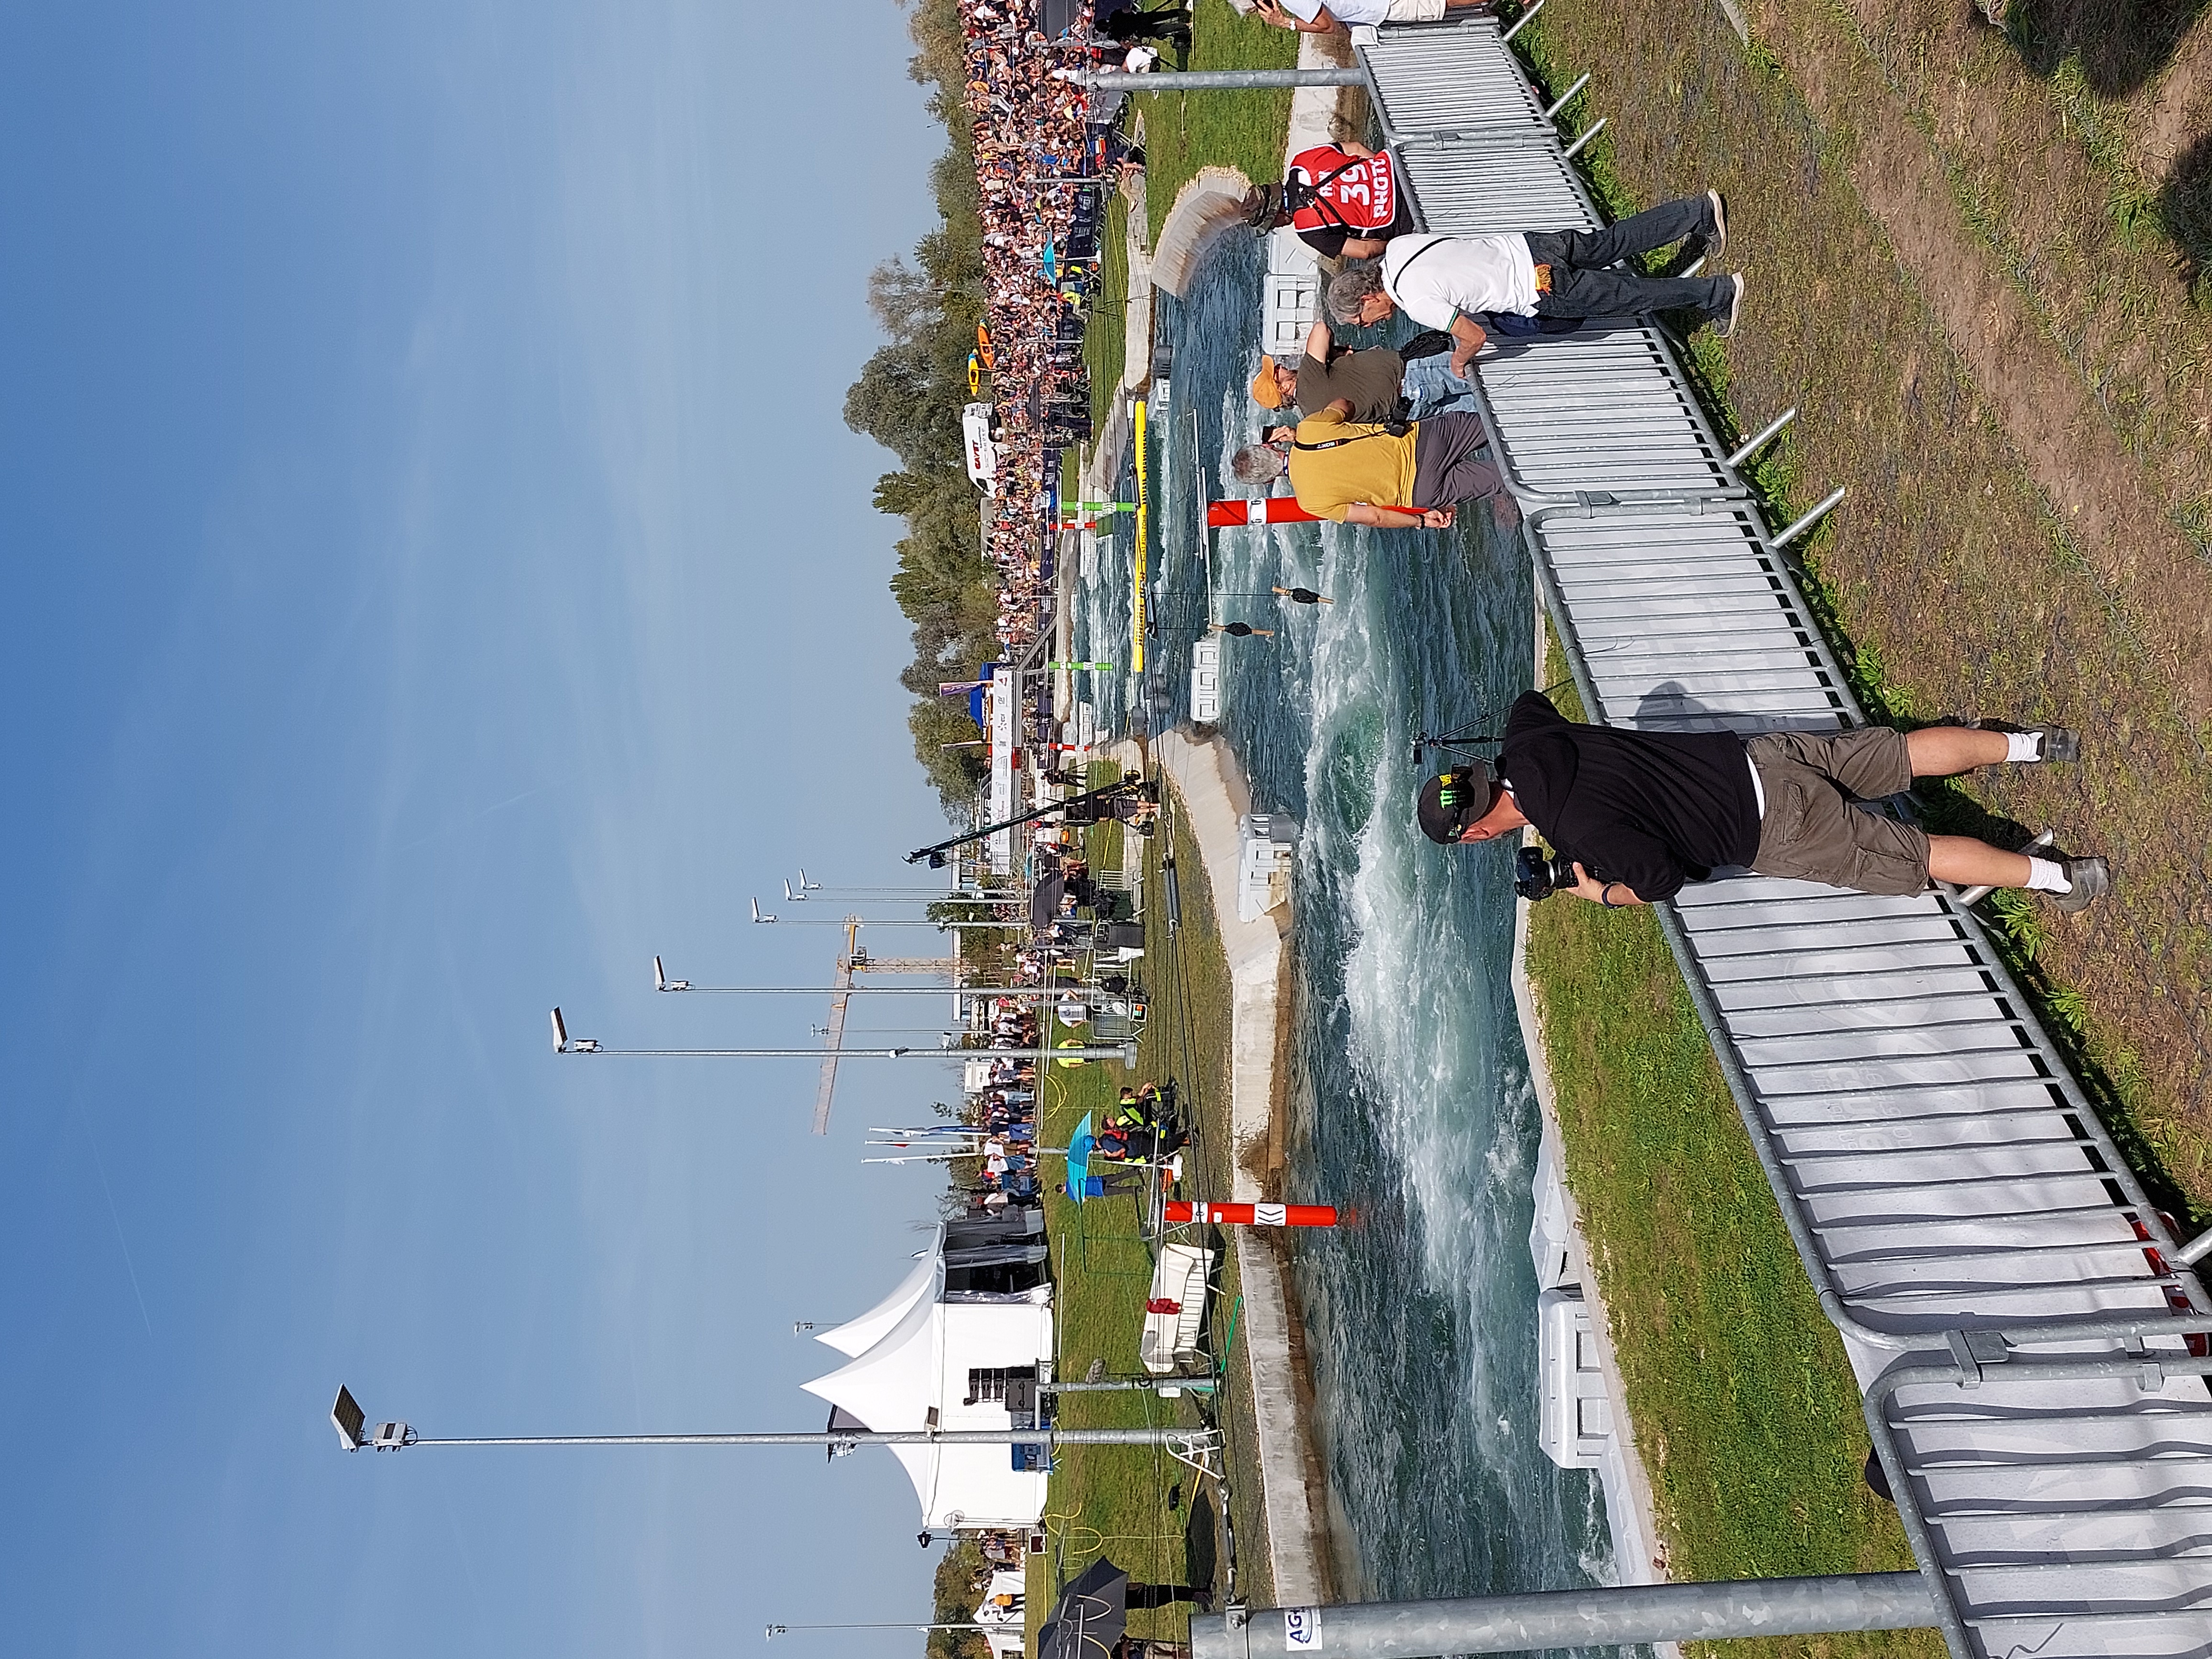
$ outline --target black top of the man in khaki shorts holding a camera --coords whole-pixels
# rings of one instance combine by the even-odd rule
[[[1734,732],[1575,726],[1524,692],[1498,772],[1544,841],[1637,898],[1672,898],[1759,852],[1759,794]]]

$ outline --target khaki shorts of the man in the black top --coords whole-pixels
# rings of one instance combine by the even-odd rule
[[[1927,834],[1858,805],[1911,787],[1905,732],[1767,732],[1743,750],[1767,794],[1752,869],[1863,894],[1927,891]]]

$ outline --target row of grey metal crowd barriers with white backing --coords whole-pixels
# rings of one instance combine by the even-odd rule
[[[1601,223],[1493,24],[1360,62],[1425,228]],[[1865,723],[1657,327],[1478,369],[1590,719]],[[1747,872],[1659,909],[1951,1650],[2212,1655],[2212,1303],[1971,909]]]

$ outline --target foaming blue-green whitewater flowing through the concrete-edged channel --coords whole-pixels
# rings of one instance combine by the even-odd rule
[[[1259,248],[1221,237],[1177,305],[1172,405],[1152,431],[1159,635],[1150,686],[1086,677],[1102,723],[1188,717],[1208,571],[1194,478],[1243,493],[1259,436]],[[1192,429],[1192,414],[1197,427]],[[1166,478],[1161,478],[1166,467]],[[1126,531],[1079,591],[1077,655],[1128,664]],[[1270,586],[1336,599],[1296,606]],[[1301,1239],[1332,1500],[1360,1599],[1610,1579],[1604,1500],[1537,1447],[1528,1263],[1537,1110],[1509,987],[1502,847],[1431,847],[1409,741],[1526,686],[1531,584],[1513,538],[1464,509],[1451,533],[1252,526],[1217,533],[1212,615],[1276,628],[1223,641],[1221,730],[1254,805],[1303,825],[1296,860],[1294,1148],[1285,1197],[1358,1225]],[[1261,597],[1237,597],[1261,595]]]

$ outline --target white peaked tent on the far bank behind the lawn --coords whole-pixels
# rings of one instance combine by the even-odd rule
[[[849,1365],[803,1387],[869,1429],[1011,1429],[1002,1400],[969,1400],[969,1371],[1035,1367],[1053,1354],[1051,1303],[940,1301],[945,1234],[922,1263],[927,1281],[896,1323]],[[845,1347],[914,1287],[909,1279],[860,1318],[825,1332]],[[1018,1447],[891,1447],[922,1500],[922,1526],[1033,1526],[1044,1513],[1044,1471],[1018,1469]]]

